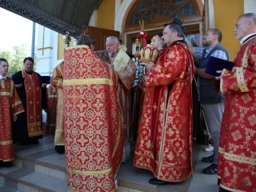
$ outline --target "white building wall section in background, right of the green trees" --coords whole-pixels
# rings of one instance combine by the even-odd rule
[[[38,26],[38,50],[36,72],[41,75],[51,75],[54,53],[54,32],[45,26]]]

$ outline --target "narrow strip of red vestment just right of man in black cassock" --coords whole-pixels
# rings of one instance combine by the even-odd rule
[[[47,87],[47,119],[46,134],[55,134],[57,108],[57,89],[54,86]]]

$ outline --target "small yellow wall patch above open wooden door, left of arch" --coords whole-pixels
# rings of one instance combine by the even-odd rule
[[[115,1],[104,0],[97,10],[97,27],[114,30]]]

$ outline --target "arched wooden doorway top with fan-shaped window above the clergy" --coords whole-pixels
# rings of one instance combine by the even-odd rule
[[[180,18],[186,28],[186,34],[200,45],[202,31],[202,6],[197,0],[129,0],[123,6],[122,38],[131,51],[132,42],[140,31],[139,21],[144,21],[148,40],[162,32],[162,26],[174,18]],[[117,18],[118,19],[118,18]],[[119,18],[120,22],[120,18]],[[116,21],[115,26],[118,25]],[[121,30],[121,29],[119,29]]]

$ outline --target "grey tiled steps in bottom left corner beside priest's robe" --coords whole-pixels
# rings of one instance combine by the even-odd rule
[[[53,167],[50,163],[34,162],[18,155],[13,167],[0,169],[0,184],[12,188],[15,192],[67,191],[66,174],[61,166]]]

